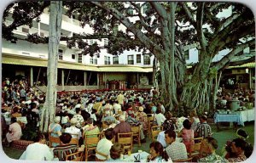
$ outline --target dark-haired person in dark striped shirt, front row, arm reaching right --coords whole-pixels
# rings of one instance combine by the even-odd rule
[[[78,151],[84,151],[84,147],[78,147],[77,144],[69,144],[71,141],[71,134],[70,133],[62,133],[60,136],[61,144],[57,145],[53,149],[53,153],[55,158],[58,160],[66,160],[66,155],[73,154]]]

